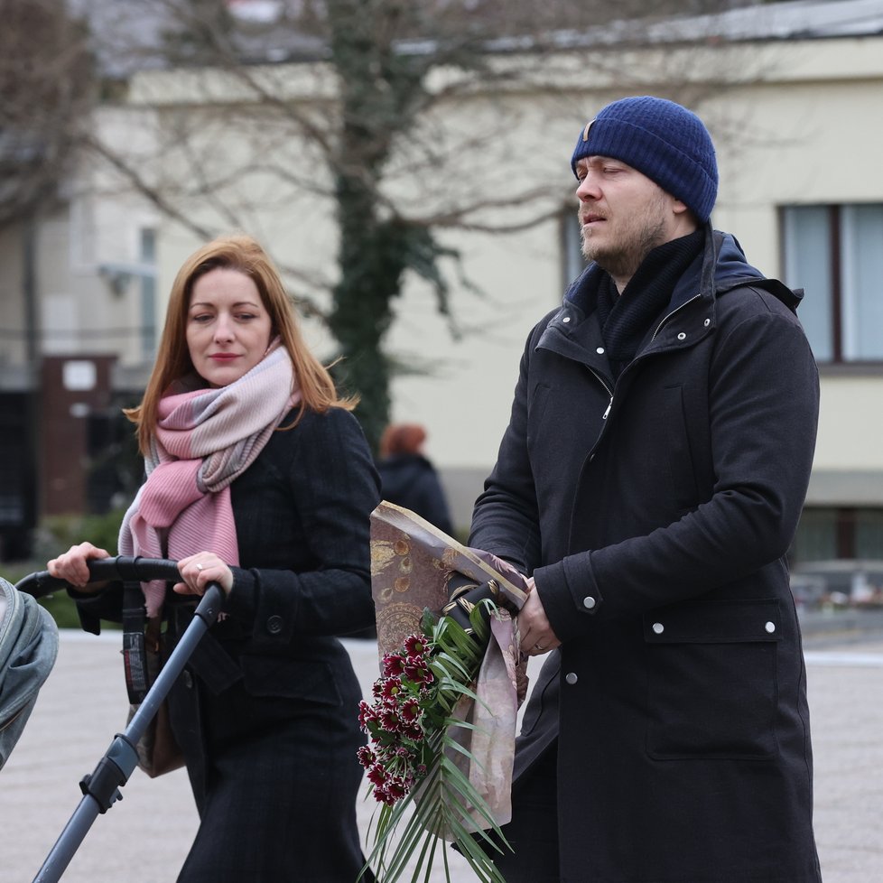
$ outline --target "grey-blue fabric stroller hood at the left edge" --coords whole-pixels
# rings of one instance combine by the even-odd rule
[[[22,735],[58,650],[55,620],[0,578],[0,768]]]

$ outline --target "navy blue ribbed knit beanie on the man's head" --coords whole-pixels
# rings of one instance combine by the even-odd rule
[[[609,104],[582,130],[571,160],[574,174],[583,156],[626,163],[700,221],[711,217],[718,194],[714,144],[702,120],[674,101],[643,95]]]

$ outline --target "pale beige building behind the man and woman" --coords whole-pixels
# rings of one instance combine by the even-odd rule
[[[577,135],[612,98],[671,96],[702,116],[718,145],[714,226],[738,237],[765,273],[806,290],[800,315],[819,361],[823,409],[796,556],[883,558],[883,0],[764,5],[666,23],[649,36],[651,48],[638,51],[611,45],[609,33],[562,35],[560,53],[527,76],[527,57],[501,56],[497,63],[511,66],[510,88],[471,89],[428,122],[433,137],[456,149],[429,173],[394,176],[389,195],[399,206],[419,214],[469,196],[487,205],[473,216],[481,224],[517,228],[545,219],[505,234],[441,234],[460,250],[463,273],[480,294],[454,285],[454,337],[428,286],[408,280],[388,347],[427,373],[395,380],[394,419],[427,427],[427,452],[442,470],[455,520],[467,525],[507,425],[526,335],[579,271],[570,171]],[[321,108],[331,88],[316,65],[266,66],[256,76],[302,107]],[[438,76],[441,87],[453,74]],[[541,79],[559,86],[554,97]],[[116,127],[118,143],[145,156],[163,144],[163,163],[145,169],[170,181],[185,174],[184,157],[163,139],[186,120],[189,149],[197,145],[207,179],[241,165],[224,196],[237,187],[249,194],[242,226],[296,271],[293,291],[307,291],[304,278],[333,281],[329,203],[302,189],[280,191],[248,167],[256,133],[223,123],[234,95],[242,112],[248,90],[234,91],[210,72],[144,72],[132,80],[129,106],[104,108],[101,125]],[[293,177],[321,184],[321,164],[303,144],[258,134],[277,163],[298,172]],[[535,190],[539,198],[518,199]],[[189,220],[225,229],[207,200],[185,209]],[[78,182],[70,210],[38,239],[42,354],[112,354],[112,386],[137,389],[172,276],[199,238],[96,171]],[[8,257],[0,271],[3,326],[24,329],[23,301],[14,293],[21,252],[11,234],[0,236],[0,254]],[[330,352],[327,332],[314,322],[307,327],[316,349]],[[24,343],[4,339],[4,389],[33,388],[33,379],[22,379],[26,362]]]

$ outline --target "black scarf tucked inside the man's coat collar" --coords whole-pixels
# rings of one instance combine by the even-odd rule
[[[657,246],[641,262],[623,293],[609,273],[598,282],[598,321],[613,376],[635,358],[646,333],[672,299],[674,286],[705,242],[702,228]]]

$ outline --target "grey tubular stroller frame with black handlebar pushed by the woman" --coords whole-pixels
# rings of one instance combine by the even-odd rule
[[[120,555],[116,558],[90,561],[88,562],[88,568],[91,581],[139,583],[153,580],[178,581],[180,579],[178,563],[165,559],[132,558]],[[43,571],[26,576],[17,583],[14,589],[10,587],[10,590],[18,595],[23,605],[33,606],[33,608],[45,614],[45,611],[33,602],[33,598],[41,598],[44,595],[51,594],[53,591],[65,588],[67,588],[67,583],[52,577],[49,572]],[[148,725],[157,711],[159,711],[160,705],[172,689],[172,684],[178,678],[178,675],[181,674],[184,665],[190,659],[200,638],[215,623],[223,600],[224,592],[218,583],[209,583],[205,594],[200,599],[200,603],[195,610],[191,624],[172,650],[156,680],[144,695],[138,710],[135,711],[135,714],[129,720],[125,732],[116,733],[116,736],[110,743],[110,747],[107,748],[104,756],[98,761],[94,771],[87,776],[83,776],[80,781],[79,787],[83,793],[83,798],[79,802],[76,811],[70,817],[70,821],[65,826],[64,831],[61,832],[55,846],[52,847],[49,856],[43,862],[42,868],[37,873],[37,876],[33,878],[33,883],[56,883],[56,881],[60,880],[61,875],[70,864],[74,853],[79,848],[79,844],[83,841],[92,823],[98,817],[98,813],[106,813],[122,797],[119,789],[125,785],[129,776],[131,776],[138,765],[136,746],[139,740],[144,736]],[[48,614],[45,615],[48,617]],[[55,624],[51,618],[50,622],[54,645],[51,661],[46,666],[45,674],[43,674],[43,681],[48,676],[51,665],[55,661],[54,651],[58,647],[57,629],[55,629]],[[0,645],[2,644],[3,639],[2,634],[0,634]],[[0,678],[2,678],[2,670],[0,670]],[[40,684],[42,684],[42,681]],[[32,687],[34,698],[40,684]],[[2,695],[3,701],[0,702],[0,707],[5,711],[5,690]],[[0,726],[2,724],[3,720],[0,719]],[[17,732],[20,733],[22,729],[23,721]],[[2,736],[2,733],[0,733],[0,736]]]

